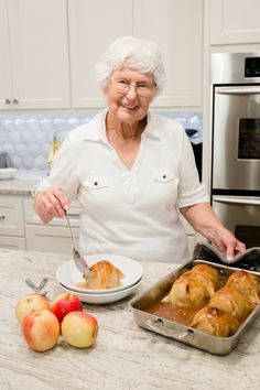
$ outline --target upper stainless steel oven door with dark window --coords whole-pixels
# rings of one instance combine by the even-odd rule
[[[260,189],[260,86],[215,87],[213,188]]]

